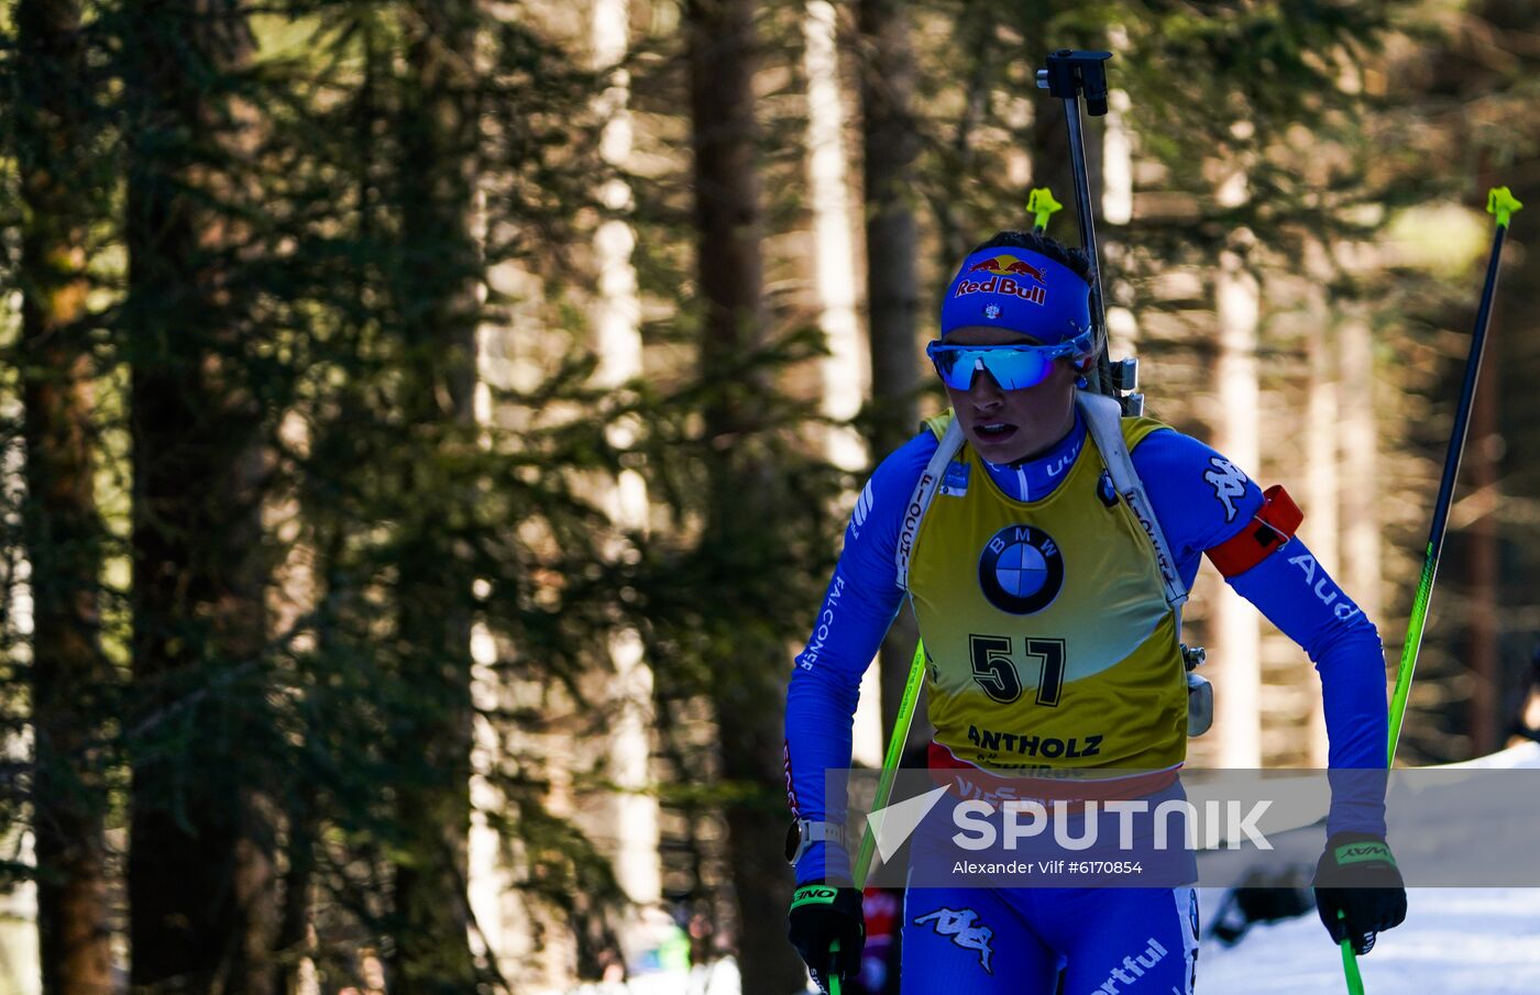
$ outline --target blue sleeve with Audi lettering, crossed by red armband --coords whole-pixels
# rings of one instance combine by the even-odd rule
[[[1133,465],[1187,585],[1203,550],[1235,536],[1261,508],[1261,490],[1207,445],[1177,431],[1157,431],[1133,450]],[[1229,578],[1246,601],[1294,639],[1321,678],[1334,772],[1383,770],[1389,718],[1384,648],[1364,613],[1315,562],[1300,538]],[[1223,695],[1224,688],[1215,688]],[[1384,835],[1383,778],[1334,773],[1327,833]],[[1349,790],[1349,781],[1352,787]]]

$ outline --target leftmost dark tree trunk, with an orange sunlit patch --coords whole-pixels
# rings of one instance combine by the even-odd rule
[[[94,206],[80,5],[15,11],[22,231],[23,514],[32,593],[32,833],[43,995],[111,984],[106,786],[99,738],[114,684],[99,642],[103,528],[92,493],[86,226]]]

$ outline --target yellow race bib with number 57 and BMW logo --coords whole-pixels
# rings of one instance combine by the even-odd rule
[[[950,411],[930,420],[938,436]],[[1123,419],[1127,447],[1163,428]],[[962,445],[915,538],[909,591],[930,722],[1001,773],[1163,770],[1187,752],[1186,670],[1155,553],[1086,437],[1041,501]]]

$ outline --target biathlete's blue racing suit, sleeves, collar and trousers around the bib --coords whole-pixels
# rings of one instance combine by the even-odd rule
[[[906,598],[895,573],[906,507],[936,445],[935,433],[918,434],[867,481],[813,633],[795,661],[785,710],[785,773],[798,818],[844,819],[844,799],[824,798],[824,772],[850,764],[861,675]],[[1086,445],[1093,444],[1076,411],[1070,433],[1049,451],[1016,465],[984,464],[989,484],[1012,501],[1043,501],[1055,493],[1064,467]],[[1132,448],[1132,459],[1190,588],[1204,551],[1246,528],[1263,494],[1223,456],[1170,428],[1144,436]],[[973,551],[958,554],[972,558]],[[1329,766],[1383,769],[1384,658],[1372,622],[1298,538],[1227,582],[1315,664]],[[1343,830],[1383,835],[1383,802],[1363,795],[1334,799],[1327,833]],[[849,873],[849,855],[825,844],[813,844],[796,866],[799,884]],[[1124,987],[1135,995],[1186,992],[1194,978],[1197,921],[1197,898],[1189,887],[910,889],[904,990],[1049,993],[1055,973],[1063,970],[1072,993],[1118,995]]]

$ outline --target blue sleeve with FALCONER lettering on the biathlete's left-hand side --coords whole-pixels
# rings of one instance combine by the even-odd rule
[[[844,798],[825,798],[824,772],[850,767],[850,725],[861,675],[904,599],[893,564],[904,505],[936,450],[929,431],[884,459],[861,490],[845,547],[824,593],[807,645],[792,668],[785,699],[785,789],[801,819],[844,822]],[[798,863],[798,883],[849,878],[849,855],[838,847],[825,867],[822,844]]]

